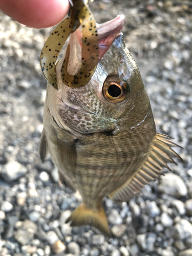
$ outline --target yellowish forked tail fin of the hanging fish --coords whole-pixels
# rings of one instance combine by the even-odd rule
[[[84,203],[82,203],[77,209],[75,209],[71,216],[67,219],[66,223],[72,222],[71,226],[93,225],[106,236],[111,237],[111,232],[108,225],[108,220],[103,207],[99,209],[89,209]]]

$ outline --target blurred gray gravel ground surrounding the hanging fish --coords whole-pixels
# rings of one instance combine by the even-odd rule
[[[140,68],[157,131],[184,147],[173,172],[120,205],[104,199],[113,238],[65,224],[81,201],[58,185],[37,154],[46,94],[39,54],[51,29],[0,13],[0,255],[192,255],[192,4],[95,0],[98,23],[125,15],[127,47]]]

